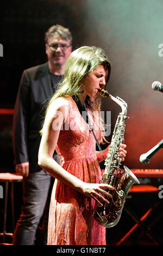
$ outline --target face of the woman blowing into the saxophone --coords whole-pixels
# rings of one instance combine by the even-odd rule
[[[97,96],[97,89],[105,86],[105,69],[103,65],[98,66],[90,74],[88,74],[82,81],[85,93],[95,98]]]

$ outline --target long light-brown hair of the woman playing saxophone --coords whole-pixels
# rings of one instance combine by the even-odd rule
[[[95,46],[83,46],[73,51],[68,57],[65,64],[64,77],[58,84],[58,89],[48,103],[46,113],[51,103],[58,97],[73,96],[81,93],[83,78],[95,70],[99,65],[103,65],[106,70],[106,83],[110,77],[111,65],[108,57],[102,48]],[[88,98],[90,111],[93,113],[93,118],[98,120],[98,126],[101,130],[98,141],[103,142],[104,125],[101,119],[101,96],[97,95],[95,99]],[[40,131],[42,134],[42,130]]]

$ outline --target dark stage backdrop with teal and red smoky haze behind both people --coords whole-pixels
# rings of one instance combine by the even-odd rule
[[[108,53],[112,65],[108,91],[128,103],[125,165],[162,169],[162,150],[147,165],[139,161],[163,139],[163,94],[151,87],[154,81],[163,83],[162,10],[162,0],[1,1],[0,108],[14,108],[24,69],[46,62],[45,32],[58,23],[72,32],[73,50],[95,45]],[[111,111],[112,132],[121,109],[108,99],[103,99],[102,108]],[[1,114],[0,123],[1,172],[14,172],[12,114]]]

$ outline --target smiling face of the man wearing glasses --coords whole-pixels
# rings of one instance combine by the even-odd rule
[[[63,66],[71,54],[72,46],[60,36],[51,36],[46,44],[46,54],[51,65]]]

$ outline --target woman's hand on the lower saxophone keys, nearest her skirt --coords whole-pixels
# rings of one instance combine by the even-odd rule
[[[85,182],[82,187],[82,193],[86,197],[95,199],[95,201],[99,204],[99,206],[103,205],[101,202],[110,204],[110,202],[105,197],[112,198],[112,196],[109,192],[106,192],[106,190],[114,191],[115,188],[108,184],[100,184],[100,183],[95,184],[95,183],[85,183]]]

